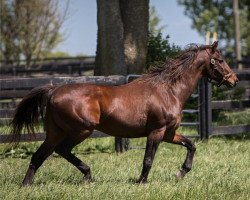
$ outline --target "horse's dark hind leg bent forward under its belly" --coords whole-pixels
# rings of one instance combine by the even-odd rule
[[[79,135],[77,139],[74,138],[73,140],[70,137],[66,137],[60,144],[56,146],[55,152],[73,164],[78,170],[80,170],[81,173],[84,174],[84,181],[90,182],[92,180],[90,167],[71,153],[72,149],[77,144],[81,143],[92,133],[92,131],[87,132],[88,133],[85,132],[83,136]]]

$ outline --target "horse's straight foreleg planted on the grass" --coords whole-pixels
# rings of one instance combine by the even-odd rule
[[[161,140],[151,138],[150,136],[147,138],[147,145],[146,145],[146,150],[145,150],[145,155],[144,155],[144,160],[143,160],[142,172],[137,183],[147,182],[148,174],[152,167],[155,153],[159,146],[160,141]]]

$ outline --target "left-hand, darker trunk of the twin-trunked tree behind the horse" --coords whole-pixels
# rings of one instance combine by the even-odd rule
[[[123,24],[119,0],[97,0],[95,75],[125,75]]]

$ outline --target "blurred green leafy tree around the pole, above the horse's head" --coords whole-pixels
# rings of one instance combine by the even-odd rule
[[[232,1],[218,0],[178,0],[185,7],[185,14],[189,16],[195,28],[205,37],[206,31],[217,32],[219,40],[223,40],[225,47],[233,51],[234,26]],[[240,1],[241,43],[243,54],[250,54],[250,1]]]

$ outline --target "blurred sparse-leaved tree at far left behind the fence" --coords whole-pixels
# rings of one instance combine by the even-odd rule
[[[29,68],[32,59],[43,57],[62,40],[59,29],[68,2],[64,10],[58,0],[0,0],[0,5],[0,54],[6,63],[24,58]]]

